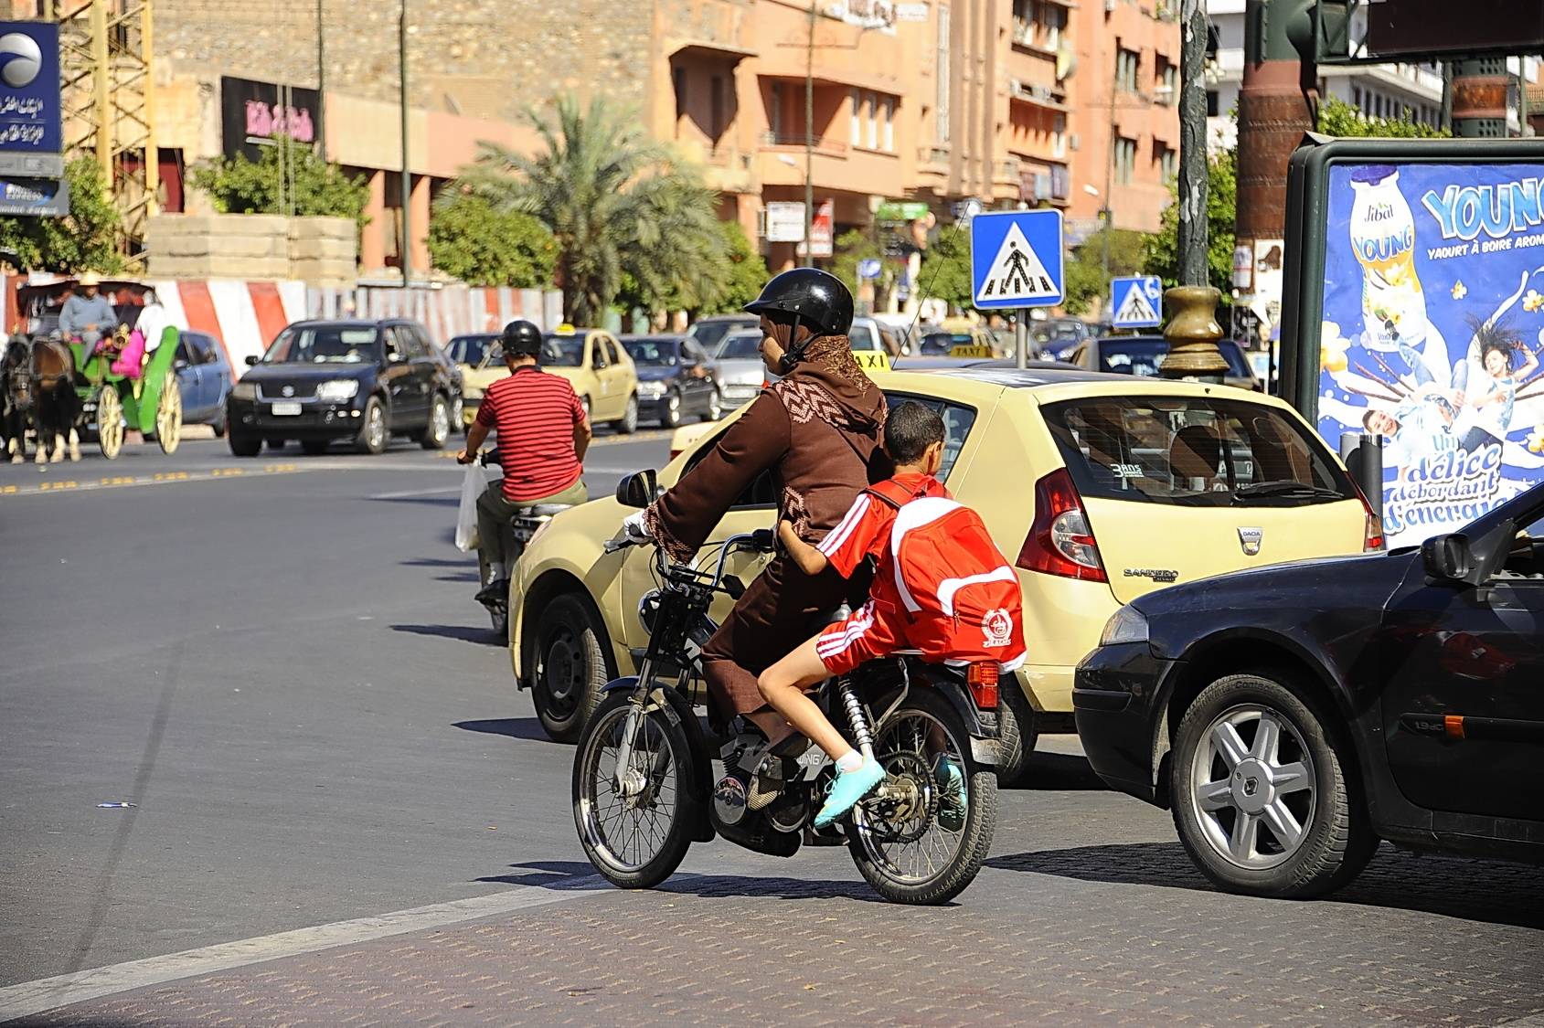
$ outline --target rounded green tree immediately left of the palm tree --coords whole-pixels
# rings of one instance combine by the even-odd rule
[[[429,256],[434,267],[472,286],[545,289],[557,244],[536,218],[494,210],[486,198],[452,188],[434,205]]]

